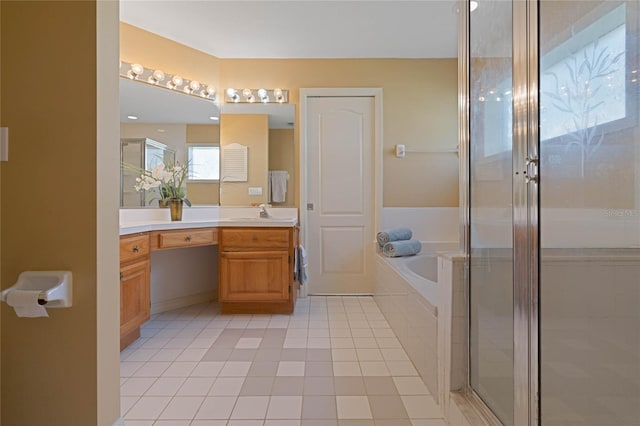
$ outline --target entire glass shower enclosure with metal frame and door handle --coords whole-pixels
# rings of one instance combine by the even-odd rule
[[[469,391],[505,425],[640,424],[639,9],[465,12]]]

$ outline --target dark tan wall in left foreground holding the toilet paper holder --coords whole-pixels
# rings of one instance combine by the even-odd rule
[[[97,307],[97,286],[108,277],[98,276],[97,267],[96,206],[103,194],[96,193],[96,3],[2,2],[2,124],[11,129],[11,161],[2,165],[1,182],[2,286],[33,269],[71,270],[74,284],[73,307],[50,309],[50,318],[2,311],[5,425],[110,425],[119,416],[116,387],[111,408],[103,407],[98,418],[98,380],[105,379],[97,365],[98,343],[104,348],[105,342],[98,336],[117,336],[117,319],[104,321],[117,316],[118,305],[114,244],[101,247],[108,256],[100,262],[113,269],[108,277],[114,282],[111,291],[101,289],[109,296],[101,301],[104,309]],[[43,70],[55,84],[39,85],[35,100],[17,82],[42,81]],[[115,174],[117,163],[109,161],[104,165]],[[111,218],[115,240],[117,195],[109,195],[100,205],[110,207],[103,214]],[[117,354],[117,339],[106,343],[112,352],[100,357],[117,366],[110,355]]]

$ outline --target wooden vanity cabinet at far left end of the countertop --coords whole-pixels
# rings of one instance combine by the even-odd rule
[[[140,337],[149,319],[149,234],[120,237],[120,350]]]

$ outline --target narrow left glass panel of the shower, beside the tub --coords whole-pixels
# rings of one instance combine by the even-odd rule
[[[512,10],[470,16],[471,386],[513,424]]]

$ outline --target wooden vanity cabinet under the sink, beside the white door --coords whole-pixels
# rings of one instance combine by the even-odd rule
[[[294,228],[222,228],[219,301],[222,313],[289,314]]]

